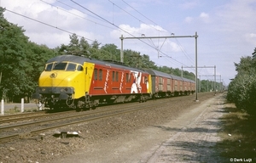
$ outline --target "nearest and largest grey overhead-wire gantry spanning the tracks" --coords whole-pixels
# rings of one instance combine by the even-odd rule
[[[123,37],[123,35],[121,35],[120,40],[121,40],[121,52],[120,52],[120,62],[124,63],[124,39],[148,39],[148,38],[156,38],[156,39],[160,39],[160,38],[188,38],[188,37],[195,37],[195,101],[197,102],[197,87],[198,87],[198,83],[197,83],[197,31],[195,31],[195,35],[194,36],[168,36],[168,37]],[[158,49],[158,53],[159,53],[160,49]]]

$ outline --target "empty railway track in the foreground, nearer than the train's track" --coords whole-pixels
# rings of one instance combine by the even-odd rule
[[[79,113],[73,111],[74,114],[70,114],[71,112],[69,112],[68,114],[67,112],[55,113],[55,115],[49,114],[51,116],[49,119],[45,118],[49,115],[38,115],[33,117],[34,119],[38,119],[40,117],[38,121],[22,122],[15,125],[0,126],[0,143],[12,142],[20,138],[22,139],[40,137],[40,133],[55,128],[60,128],[61,126],[69,126],[84,123],[86,121],[95,121],[114,115],[122,115],[135,112],[138,110],[156,109],[160,106],[165,106],[165,101],[168,101],[168,99],[169,98],[157,101],[149,101],[148,103],[142,104],[119,104],[102,107],[101,110],[91,110]],[[56,115],[58,116],[56,117]],[[23,118],[19,119],[22,119],[24,121]],[[32,119],[32,117],[30,117],[30,119]]]

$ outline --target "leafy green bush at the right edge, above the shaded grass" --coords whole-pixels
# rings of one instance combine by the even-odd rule
[[[230,82],[227,99],[250,115],[256,115],[256,67],[255,59],[243,57],[236,64],[237,75]]]

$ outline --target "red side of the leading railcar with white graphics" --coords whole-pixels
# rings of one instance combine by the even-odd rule
[[[149,74],[142,71],[95,65],[90,84],[90,95],[150,93],[148,78]]]

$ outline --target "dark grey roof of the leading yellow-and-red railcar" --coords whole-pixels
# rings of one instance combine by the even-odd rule
[[[46,64],[51,63],[51,62],[74,62],[80,65],[84,65],[84,62],[88,62],[88,63],[93,63],[93,64],[97,64],[97,65],[108,65],[110,67],[115,67],[115,68],[120,68],[120,69],[125,69],[125,70],[136,70],[136,71],[140,71],[140,72],[147,72],[145,70],[140,70],[140,69],[136,69],[136,68],[132,68],[126,65],[118,65],[113,63],[112,61],[103,61],[103,60],[97,60],[97,59],[88,59],[85,58],[83,56],[78,56],[78,55],[59,55],[56,56],[55,58],[49,59]]]

